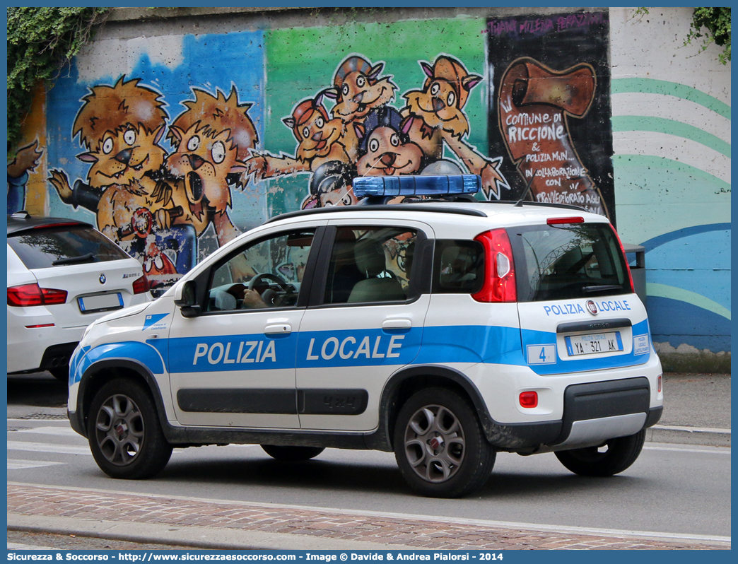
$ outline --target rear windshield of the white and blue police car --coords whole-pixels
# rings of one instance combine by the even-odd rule
[[[509,228],[521,302],[630,293],[630,278],[610,224]]]

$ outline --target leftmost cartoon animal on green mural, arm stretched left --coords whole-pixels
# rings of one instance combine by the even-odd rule
[[[313,172],[325,162],[351,162],[345,146],[340,142],[345,125],[338,118],[331,120],[323,106],[324,92],[303,100],[294,106],[292,114],[283,123],[292,130],[297,140],[294,157],[280,154],[253,154],[246,160],[244,176],[256,181],[294,174]]]

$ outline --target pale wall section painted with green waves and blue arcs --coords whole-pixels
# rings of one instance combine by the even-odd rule
[[[662,353],[731,350],[731,65],[683,46],[691,14],[610,10],[618,232]]]

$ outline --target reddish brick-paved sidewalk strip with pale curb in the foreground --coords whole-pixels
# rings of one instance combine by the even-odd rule
[[[730,548],[729,540],[604,529],[304,509],[10,483],[8,529],[197,548],[542,550]],[[506,526],[503,526],[506,525]]]

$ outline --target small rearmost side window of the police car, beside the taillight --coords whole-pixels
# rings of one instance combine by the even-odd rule
[[[475,294],[482,288],[484,247],[477,241],[439,239],[433,253],[434,294]]]

